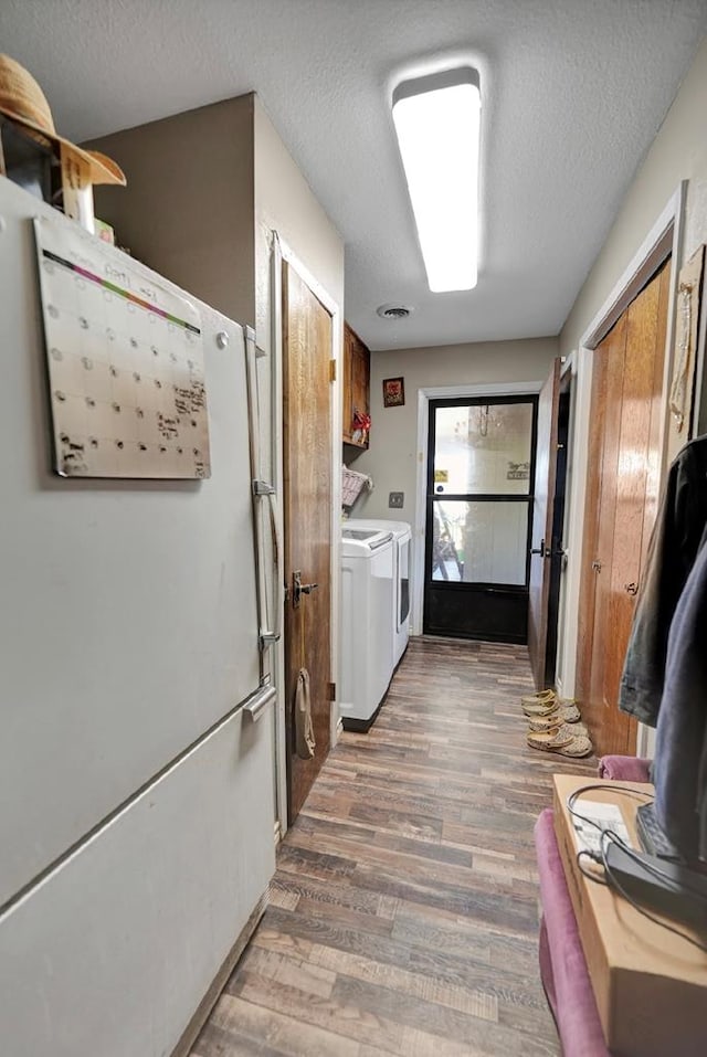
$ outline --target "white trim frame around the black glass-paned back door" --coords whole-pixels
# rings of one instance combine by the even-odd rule
[[[422,635],[424,605],[424,532],[428,510],[428,423],[430,401],[466,397],[535,395],[542,381],[484,382],[478,385],[431,385],[418,390],[418,480],[415,487],[415,524],[412,533],[412,620],[411,635]]]

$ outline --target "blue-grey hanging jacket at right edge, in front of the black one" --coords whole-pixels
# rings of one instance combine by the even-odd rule
[[[687,858],[707,859],[707,547],[671,626],[653,780],[665,835]]]

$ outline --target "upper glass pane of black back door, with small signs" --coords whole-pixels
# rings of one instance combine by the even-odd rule
[[[532,404],[435,410],[436,495],[529,495]]]

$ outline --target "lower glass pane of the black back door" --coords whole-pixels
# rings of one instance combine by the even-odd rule
[[[434,500],[432,579],[524,585],[528,503]]]

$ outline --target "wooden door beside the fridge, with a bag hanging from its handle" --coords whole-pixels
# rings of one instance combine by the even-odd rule
[[[292,823],[329,751],[331,317],[309,287],[283,265],[284,522],[286,584],[285,673],[287,814]],[[295,598],[293,578],[316,584]],[[309,674],[316,749],[300,759],[295,695],[300,668]]]

